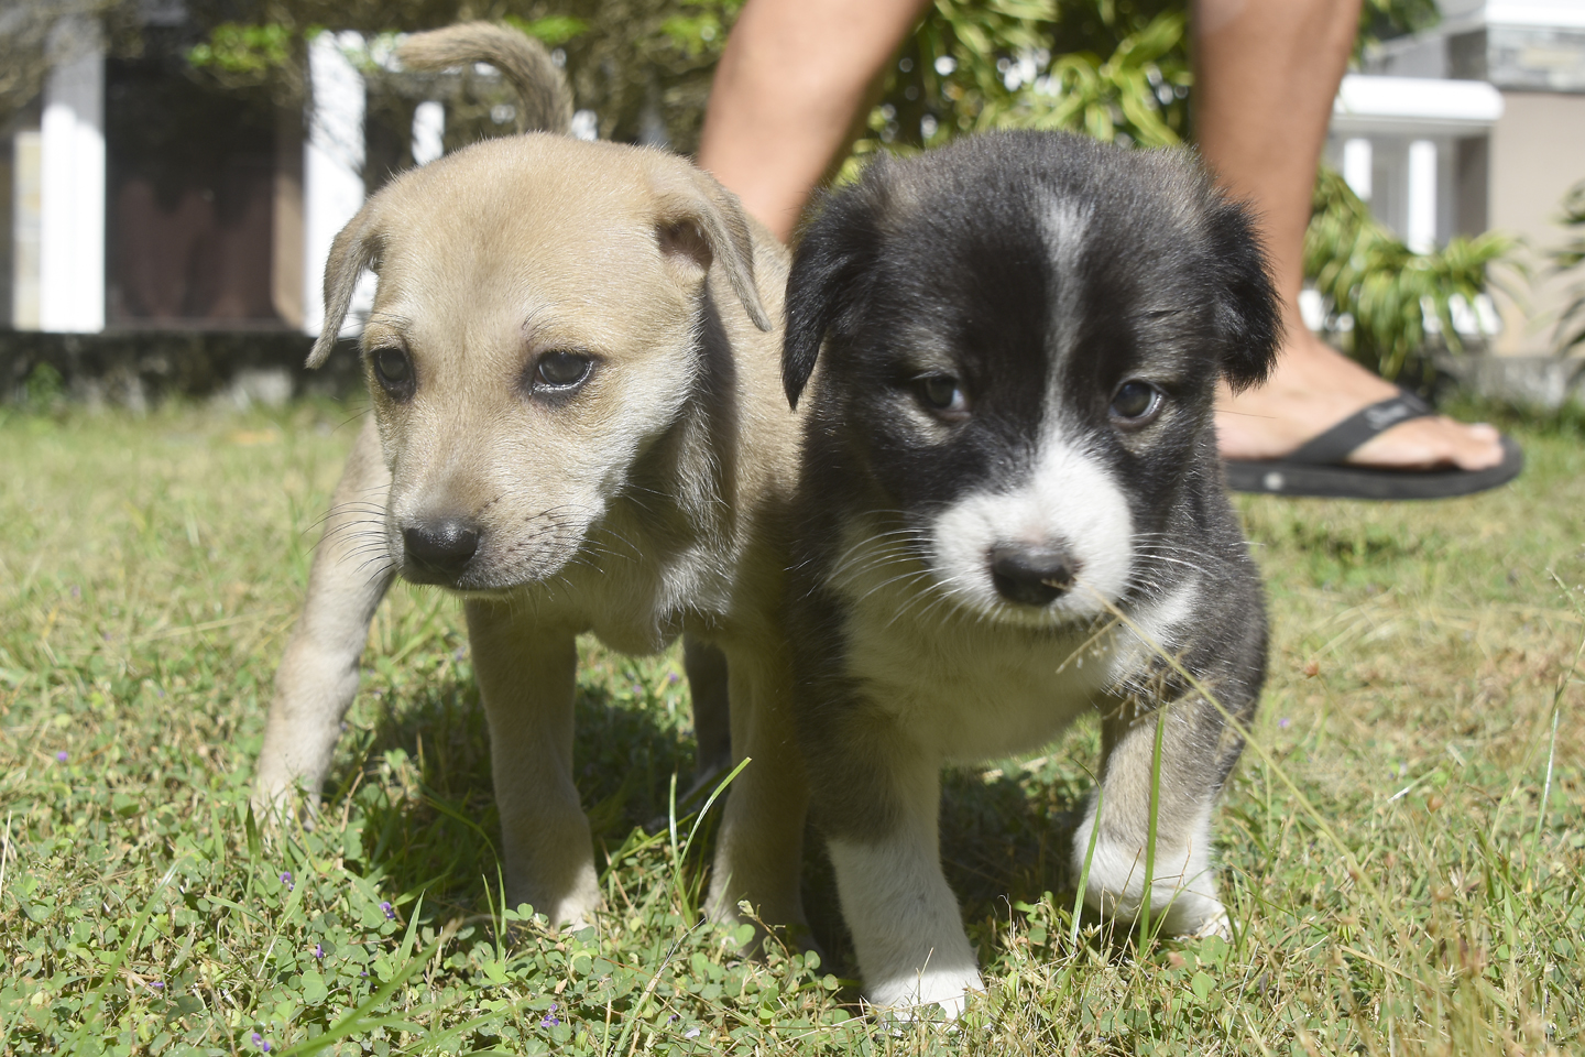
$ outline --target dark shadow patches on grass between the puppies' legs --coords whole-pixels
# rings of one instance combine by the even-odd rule
[[[626,672],[580,680],[575,697],[577,783],[601,868],[636,827],[653,830],[666,818],[672,773],[678,775],[678,794],[693,773],[693,734],[677,715],[686,716],[686,707],[667,710],[644,691],[644,681]],[[333,786],[330,810],[344,810],[352,796],[353,811],[363,818],[365,865],[390,878],[398,892],[423,892],[436,919],[487,913],[499,899],[501,837],[488,731],[471,670],[445,666],[439,678],[420,675],[376,693],[382,704],[372,727],[331,775],[339,789]],[[994,932],[1013,902],[1033,903],[1045,892],[1071,905],[1068,849],[1089,778],[1068,775],[1068,769],[1065,764],[1038,778],[1016,769],[1000,777],[978,769],[943,775],[943,868],[972,933]],[[708,864],[720,813],[718,803],[685,870],[702,872]],[[705,883],[702,876],[691,880],[701,887]],[[620,878],[634,899],[645,886],[663,883],[661,876]],[[805,834],[802,887],[826,964],[856,976],[835,878],[815,830]]]

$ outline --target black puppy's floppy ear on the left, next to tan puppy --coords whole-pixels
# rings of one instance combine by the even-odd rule
[[[867,300],[865,276],[878,246],[875,219],[884,200],[884,168],[878,158],[856,187],[829,195],[792,252],[781,385],[794,409],[826,338],[850,323]]]

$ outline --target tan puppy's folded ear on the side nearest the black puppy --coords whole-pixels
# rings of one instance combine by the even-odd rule
[[[702,170],[694,170],[683,181],[667,179],[658,190],[655,225],[661,252],[689,260],[704,271],[712,263],[720,265],[748,319],[769,331],[770,315],[754,285],[754,239],[737,195]]]

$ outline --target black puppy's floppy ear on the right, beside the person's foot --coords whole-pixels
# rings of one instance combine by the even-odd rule
[[[1282,301],[1249,209],[1220,200],[1208,222],[1222,377],[1236,393],[1271,374],[1282,344]]]

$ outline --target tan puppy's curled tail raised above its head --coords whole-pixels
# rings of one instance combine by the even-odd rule
[[[491,22],[461,22],[414,33],[396,57],[409,70],[441,71],[487,62],[517,90],[517,130],[566,135],[572,127],[572,92],[545,46],[528,33]]]

